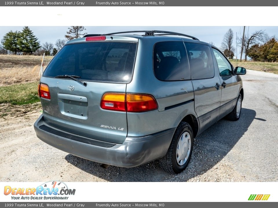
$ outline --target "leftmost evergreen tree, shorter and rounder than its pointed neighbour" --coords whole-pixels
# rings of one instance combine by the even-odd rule
[[[19,31],[15,31],[15,32],[9,31],[4,35],[3,40],[1,41],[3,48],[8,51],[11,51],[14,54],[17,54],[17,52],[20,51],[19,44],[18,44],[19,38],[20,38]]]

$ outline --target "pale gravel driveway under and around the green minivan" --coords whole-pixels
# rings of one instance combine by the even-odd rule
[[[0,118],[0,181],[278,181],[278,75],[247,70],[242,79],[241,118],[222,119],[195,138],[191,162],[178,175],[158,161],[105,169],[67,154],[36,137],[38,103],[11,107],[17,113]]]

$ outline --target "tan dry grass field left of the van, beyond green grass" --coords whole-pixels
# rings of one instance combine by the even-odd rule
[[[52,59],[45,56],[44,68]],[[0,86],[38,81],[42,56],[0,55]]]

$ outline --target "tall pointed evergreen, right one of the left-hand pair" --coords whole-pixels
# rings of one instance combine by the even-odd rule
[[[30,30],[28,26],[23,27],[19,39],[20,51],[27,54],[32,54],[40,47],[40,42],[38,41],[38,38],[36,38],[32,30]]]

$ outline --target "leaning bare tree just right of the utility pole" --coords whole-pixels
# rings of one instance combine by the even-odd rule
[[[255,31],[254,33],[250,34],[250,35],[246,35],[244,37],[244,53],[245,53],[245,58],[244,61],[247,61],[247,54],[248,54],[248,50],[251,46],[255,45],[255,44],[259,44],[260,42],[264,42],[265,41],[265,36],[266,33],[262,30],[259,31]]]

